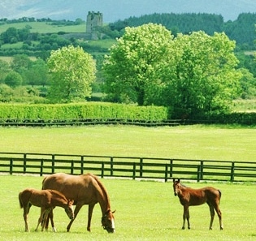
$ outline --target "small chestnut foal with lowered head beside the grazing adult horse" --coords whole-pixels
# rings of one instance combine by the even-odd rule
[[[46,226],[46,217],[56,206],[65,209],[67,216],[70,219],[74,218],[73,201],[67,200],[62,193],[55,190],[36,190],[33,188],[24,189],[19,194],[20,209],[24,209],[25,231],[29,232],[28,228],[28,213],[32,205],[41,207],[41,215],[38,219],[37,228],[41,223],[41,230]]]

